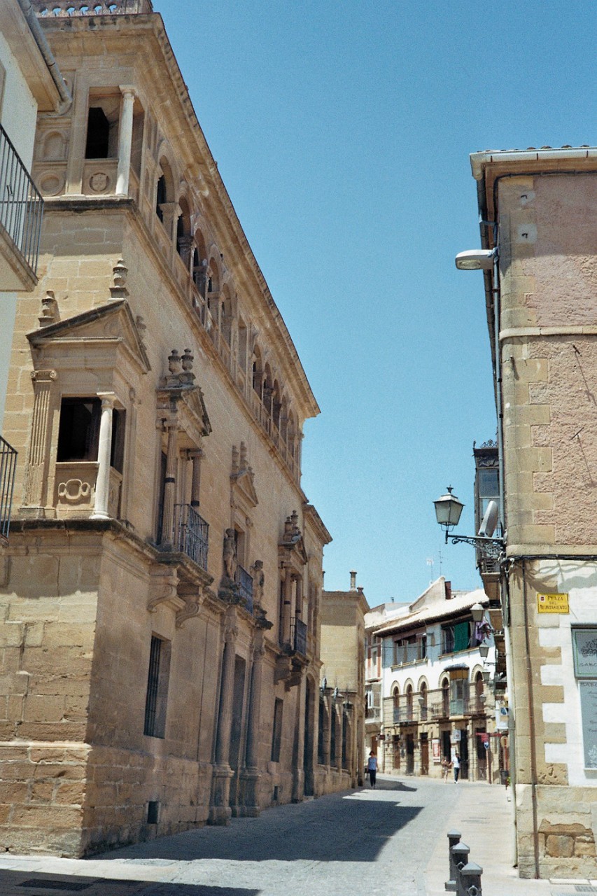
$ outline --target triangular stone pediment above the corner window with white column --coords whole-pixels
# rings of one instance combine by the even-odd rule
[[[74,314],[57,323],[50,323],[27,334],[32,348],[50,353],[57,359],[64,356],[68,366],[76,366],[78,348],[82,349],[89,363],[89,354],[95,350],[99,362],[116,366],[118,352],[124,352],[143,374],[151,370],[143,345],[142,334],[137,327],[128,302],[125,299],[111,301]],[[91,363],[93,358],[91,358]]]

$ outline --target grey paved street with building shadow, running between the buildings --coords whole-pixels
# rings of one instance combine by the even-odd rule
[[[486,896],[575,892],[521,881],[508,867],[509,811],[504,788],[378,778],[375,790],[280,806],[87,860],[4,854],[0,896],[437,896],[454,825],[484,868]]]

